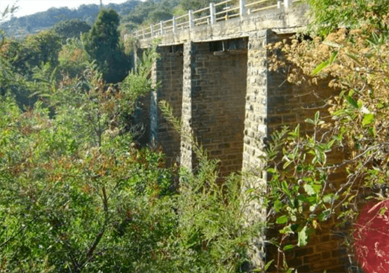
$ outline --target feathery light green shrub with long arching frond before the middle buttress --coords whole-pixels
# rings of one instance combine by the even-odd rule
[[[177,236],[170,238],[169,257],[174,267],[163,272],[241,272],[247,249],[264,223],[245,225],[245,209],[240,192],[241,176],[231,174],[223,186],[217,183],[217,160],[182,130],[182,122],[172,115],[172,107],[160,102],[165,118],[182,137],[191,141],[199,160],[198,172],[180,169]],[[172,265],[170,265],[172,266]]]

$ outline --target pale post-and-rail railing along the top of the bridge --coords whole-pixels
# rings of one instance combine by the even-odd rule
[[[278,0],[276,4],[268,3],[274,3],[273,0],[258,0],[252,3],[246,3],[246,0],[239,0],[238,6],[228,6],[228,3],[231,4],[233,0],[226,0],[216,4],[210,3],[210,6],[205,8],[196,11],[189,10],[185,15],[178,17],[173,16],[170,20],[161,21],[158,24],[150,25],[150,27],[146,27],[145,29],[138,29],[132,33],[132,36],[135,36],[135,38],[153,38],[169,32],[177,33],[179,30],[193,29],[193,27],[198,25],[214,25],[221,20],[228,20],[236,17],[243,18],[246,15],[256,13],[260,10],[281,8],[281,6],[288,8],[289,6],[292,6],[293,2],[297,1],[301,0]],[[268,5],[266,5],[266,3]],[[222,5],[226,5],[226,7],[223,8]],[[220,11],[217,12],[217,10]],[[130,36],[130,34],[126,34],[125,38],[128,36]]]

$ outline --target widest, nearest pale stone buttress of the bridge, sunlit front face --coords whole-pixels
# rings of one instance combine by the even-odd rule
[[[243,146],[242,172],[250,173],[243,181],[242,192],[247,188],[255,188],[259,192],[266,190],[266,172],[264,162],[259,156],[264,155],[267,137],[267,93],[268,71],[266,66],[266,44],[271,31],[256,31],[250,33],[247,52],[247,90],[245,106],[245,130]],[[243,195],[245,197],[245,195]],[[246,225],[258,221],[266,221],[266,208],[260,201],[250,201],[250,207],[245,211]],[[252,241],[250,256],[252,266],[263,267],[265,261],[264,230]]]

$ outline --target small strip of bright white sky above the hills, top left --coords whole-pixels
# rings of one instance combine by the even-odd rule
[[[103,5],[107,5],[109,3],[123,3],[125,1],[127,0],[102,0],[102,3]],[[15,0],[0,0],[0,13],[3,13],[8,4],[11,8],[13,3],[15,3]],[[19,0],[16,3],[16,6],[19,6],[20,8],[14,13],[14,16],[21,17],[25,15],[30,15],[38,13],[39,11],[46,11],[52,7],[60,8],[67,6],[70,9],[78,8],[82,4],[88,5],[90,3],[95,3],[97,6],[100,6],[100,0]]]

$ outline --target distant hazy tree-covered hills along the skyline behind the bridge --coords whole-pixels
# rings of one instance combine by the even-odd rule
[[[223,0],[213,1],[219,3]],[[150,25],[161,20],[169,20],[173,15],[182,15],[189,9],[197,10],[210,3],[210,0],[128,0],[124,3],[109,3],[103,8],[115,10],[120,19],[119,31],[121,34],[130,33],[139,25]],[[20,6],[23,8],[23,6]],[[64,24],[67,20],[79,20],[79,24],[85,22],[90,27],[95,23],[100,5],[81,5],[76,9],[49,8],[46,11],[32,15],[13,17],[0,23],[0,29],[4,29],[8,36],[21,39],[28,34],[36,34],[41,30],[51,29],[57,24]],[[65,24],[66,25],[66,24]],[[72,35],[71,35],[72,36]]]

